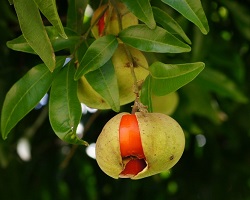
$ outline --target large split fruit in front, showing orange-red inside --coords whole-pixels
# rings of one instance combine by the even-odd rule
[[[185,137],[180,125],[160,113],[120,113],[104,126],[96,142],[96,160],[113,178],[140,179],[173,167]]]

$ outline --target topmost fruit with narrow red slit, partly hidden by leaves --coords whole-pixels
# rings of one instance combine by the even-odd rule
[[[96,9],[91,19],[91,25],[96,23],[96,20],[98,20],[98,17],[103,13],[105,8],[107,8],[107,4]],[[138,24],[137,17],[131,12],[129,12],[127,7],[124,4],[117,3],[117,8],[121,14],[123,29],[129,26]],[[110,16],[110,19],[109,19],[110,21],[107,21],[108,16]],[[104,30],[106,31],[106,33],[104,33]],[[115,11],[115,8],[112,9],[111,15],[109,13],[109,9],[107,9],[104,12],[104,14],[101,16],[99,21],[93,26],[91,31],[95,38],[99,38],[103,36],[104,34],[105,35],[108,35],[108,34],[118,35],[120,29],[119,29],[119,24],[118,24],[118,16]]]

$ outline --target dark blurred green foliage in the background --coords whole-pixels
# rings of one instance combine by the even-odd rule
[[[162,3],[151,0],[151,4]],[[0,199],[250,199],[250,2],[203,0],[202,4],[210,26],[206,36],[164,5],[191,39],[192,52],[155,57],[168,63],[206,64],[195,81],[178,90],[180,102],[173,117],[185,130],[186,149],[170,173],[139,181],[106,176],[85,147],[56,137],[45,106],[21,120],[7,140],[0,139]],[[58,1],[58,10],[65,24],[67,2]],[[2,105],[9,88],[39,60],[7,48],[6,42],[19,36],[20,29],[8,1],[2,2],[0,12]],[[95,142],[113,115],[113,111],[83,115],[84,139]],[[31,144],[32,158],[27,162],[17,154],[23,137]]]

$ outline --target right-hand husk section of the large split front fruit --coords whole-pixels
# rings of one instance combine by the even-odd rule
[[[147,167],[132,179],[145,178],[172,168],[181,158],[185,136],[181,126],[161,113],[135,113]]]

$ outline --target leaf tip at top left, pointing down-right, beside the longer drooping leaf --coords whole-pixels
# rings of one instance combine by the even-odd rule
[[[56,1],[55,0],[34,0],[44,14],[44,16],[49,20],[49,22],[57,29],[58,33],[64,39],[67,39],[67,35],[64,32],[62,22],[57,12]]]

